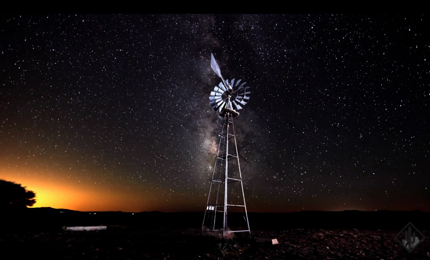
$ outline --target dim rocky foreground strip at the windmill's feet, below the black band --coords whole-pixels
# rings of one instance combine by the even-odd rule
[[[99,231],[0,233],[1,259],[405,259],[430,260],[430,231],[411,253],[399,230],[252,230],[231,239],[198,229],[108,226]],[[271,239],[278,244],[272,245]]]

